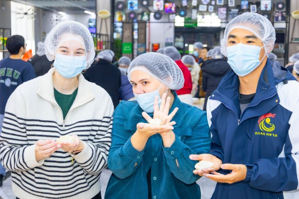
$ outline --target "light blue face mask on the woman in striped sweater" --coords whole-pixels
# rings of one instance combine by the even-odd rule
[[[86,69],[86,56],[67,56],[55,54],[53,66],[61,76],[71,79]]]

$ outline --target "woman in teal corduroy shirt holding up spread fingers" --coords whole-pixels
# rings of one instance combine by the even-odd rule
[[[146,53],[133,60],[128,78],[137,101],[122,101],[114,112],[105,199],[200,199],[189,155],[210,150],[210,132],[206,113],[174,91],[183,87],[181,70],[165,55]]]

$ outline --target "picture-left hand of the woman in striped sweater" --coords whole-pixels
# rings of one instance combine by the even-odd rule
[[[55,140],[38,140],[35,145],[35,160],[38,162],[50,157],[58,149]]]

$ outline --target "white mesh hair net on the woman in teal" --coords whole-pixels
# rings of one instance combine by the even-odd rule
[[[179,90],[184,86],[184,76],[177,64],[168,56],[160,53],[145,53],[135,58],[128,68],[128,79],[135,70],[149,73],[171,90]]]

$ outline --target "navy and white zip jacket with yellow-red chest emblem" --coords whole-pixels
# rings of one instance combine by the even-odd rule
[[[224,164],[246,165],[247,176],[234,184],[218,183],[212,199],[298,199],[299,192],[288,191],[299,185],[299,83],[268,59],[242,115],[239,85],[230,72],[208,100],[210,154]]]

